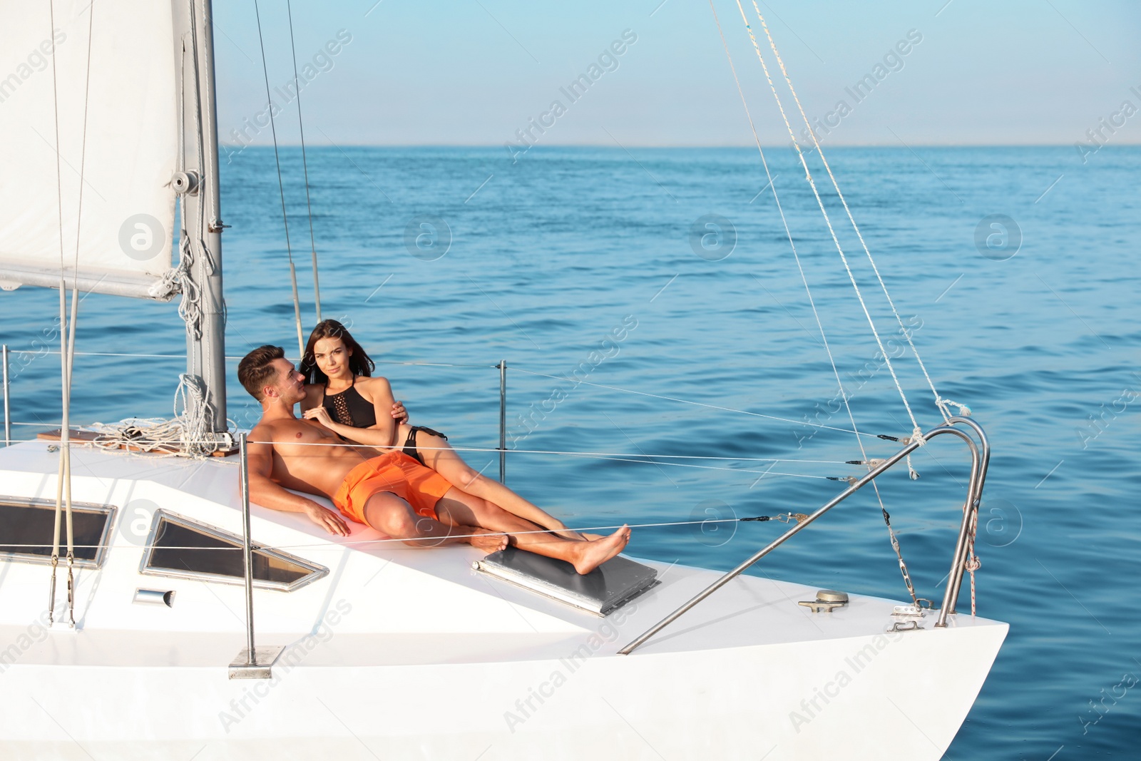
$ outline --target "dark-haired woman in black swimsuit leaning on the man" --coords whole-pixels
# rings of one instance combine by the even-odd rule
[[[497,480],[472,470],[439,431],[410,426],[402,407],[394,411],[397,403],[388,379],[372,378],[374,369],[373,361],[345,325],[335,319],[318,323],[309,334],[301,359],[300,372],[307,382],[301,414],[359,444],[395,448],[399,442],[405,454],[469,494],[566,539],[597,539],[567,531],[559,519]]]

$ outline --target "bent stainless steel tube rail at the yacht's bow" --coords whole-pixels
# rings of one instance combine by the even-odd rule
[[[970,426],[979,435],[979,437],[981,439],[981,445],[982,445],[982,452],[981,453],[979,451],[979,447],[976,446],[974,439],[972,439],[968,434],[964,434],[963,431],[958,430],[957,428],[954,428],[954,426],[956,423],[965,423],[965,424]],[[987,465],[989,464],[989,460],[990,460],[990,445],[989,445],[989,442],[987,440],[986,434],[982,432],[982,428],[979,427],[978,423],[976,423],[973,420],[970,420],[969,418],[952,418],[945,424],[939,426],[938,428],[933,428],[933,429],[929,430],[928,432],[923,434],[923,437],[922,437],[923,440],[922,442],[911,442],[911,443],[908,443],[907,446],[905,446],[903,450],[900,450],[899,452],[897,452],[892,456],[890,456],[887,460],[884,460],[881,464],[876,465],[866,476],[864,476],[858,481],[856,481],[855,484],[852,484],[851,486],[849,486],[847,489],[844,489],[843,492],[841,492],[840,494],[837,494],[835,497],[833,497],[831,501],[828,501],[826,504],[824,504],[824,507],[822,507],[819,510],[817,510],[816,512],[814,512],[812,515],[810,515],[808,518],[806,518],[801,523],[799,523],[795,526],[793,526],[792,528],[790,528],[787,532],[785,532],[784,534],[782,534],[780,536],[778,536],[776,540],[774,540],[772,542],[770,542],[768,544],[768,547],[766,547],[764,549],[760,550],[759,552],[756,552],[755,554],[753,554],[751,558],[748,558],[747,560],[745,560],[744,562],[742,562],[739,566],[737,566],[736,568],[734,568],[729,573],[727,573],[723,576],[721,576],[720,578],[718,578],[715,582],[713,582],[712,584],[710,584],[709,586],[706,586],[704,590],[702,590],[701,592],[698,592],[688,602],[686,602],[685,605],[682,605],[681,607],[679,607],[677,610],[674,610],[673,613],[671,613],[670,615],[667,615],[665,618],[663,618],[662,621],[659,621],[658,623],[656,623],[654,626],[652,626],[649,630],[647,630],[644,634],[641,634],[640,637],[638,637],[638,639],[633,640],[632,642],[630,642],[629,645],[626,645],[625,647],[623,647],[621,650],[618,650],[618,654],[620,655],[630,655],[636,648],[640,647],[647,640],[649,640],[652,637],[654,637],[654,634],[657,634],[659,631],[662,631],[663,629],[665,629],[666,626],[669,626],[671,623],[673,623],[674,621],[677,621],[678,618],[680,618],[682,615],[685,615],[688,610],[690,610],[698,602],[701,602],[702,600],[704,600],[705,598],[707,598],[710,594],[712,594],[713,592],[718,591],[719,589],[721,589],[722,586],[725,586],[726,584],[728,584],[730,581],[733,581],[734,578],[736,578],[737,576],[739,576],[750,566],[752,566],[758,560],[760,560],[761,558],[763,558],[766,554],[768,554],[769,552],[771,552],[772,550],[775,550],[776,548],[780,547],[786,541],[788,541],[790,539],[792,539],[793,535],[795,535],[796,533],[799,533],[803,528],[807,528],[809,526],[809,524],[811,524],[814,520],[816,520],[817,518],[819,518],[820,516],[823,516],[825,512],[827,512],[832,508],[836,507],[837,504],[840,504],[841,502],[843,502],[844,500],[847,500],[849,496],[851,496],[852,494],[855,494],[856,492],[858,492],[860,488],[863,488],[867,484],[872,483],[880,473],[884,472],[885,470],[888,470],[889,468],[891,468],[893,464],[896,464],[900,460],[905,459],[908,454],[913,453],[915,450],[917,450],[920,446],[922,446],[923,443],[930,442],[932,438],[934,438],[936,436],[939,436],[941,434],[952,434],[953,436],[960,437],[961,439],[963,439],[964,442],[966,442],[966,446],[971,451],[971,480],[970,480],[970,484],[968,485],[966,501],[963,504],[963,521],[962,521],[962,525],[961,525],[961,527],[958,529],[958,540],[955,543],[955,553],[954,553],[954,557],[952,558],[952,570],[950,570],[950,574],[948,575],[948,578],[947,578],[947,591],[944,594],[944,605],[942,605],[942,608],[939,612],[939,618],[936,622],[936,626],[939,626],[939,628],[946,626],[947,625],[947,615],[948,615],[948,613],[953,613],[952,608],[954,607],[955,601],[958,599],[958,585],[962,584],[962,581],[963,581],[963,569],[964,569],[963,565],[965,562],[965,559],[966,559],[965,556],[966,556],[966,551],[968,551],[968,533],[970,532],[970,527],[971,527],[971,524],[972,524],[972,520],[971,520],[972,516],[978,513],[979,501],[982,499],[982,481],[986,478],[986,469],[987,469]]]

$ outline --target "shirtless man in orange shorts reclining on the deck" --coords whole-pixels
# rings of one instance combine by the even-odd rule
[[[544,532],[450,484],[435,470],[399,451],[345,444],[316,420],[299,420],[293,407],[305,398],[305,375],[281,347],[245,355],[237,378],[261,403],[261,420],[249,436],[250,499],[274,510],[304,512],[331,534],[348,536],[341,516],[288,489],[327,496],[350,520],[372,526],[411,547],[467,542],[486,552],[509,543],[566,560],[580,574],[618,554],[630,541],[623,526],[597,540],[570,540]]]

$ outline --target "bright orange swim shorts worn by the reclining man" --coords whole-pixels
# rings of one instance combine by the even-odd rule
[[[418,516],[435,520],[436,503],[450,488],[452,484],[431,468],[403,452],[389,452],[350,470],[333,495],[333,504],[346,518],[364,524],[364,505],[370,497],[390,492],[411,504]]]

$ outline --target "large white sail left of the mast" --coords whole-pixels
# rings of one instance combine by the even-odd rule
[[[172,296],[177,63],[170,2],[0,3],[0,286]]]

